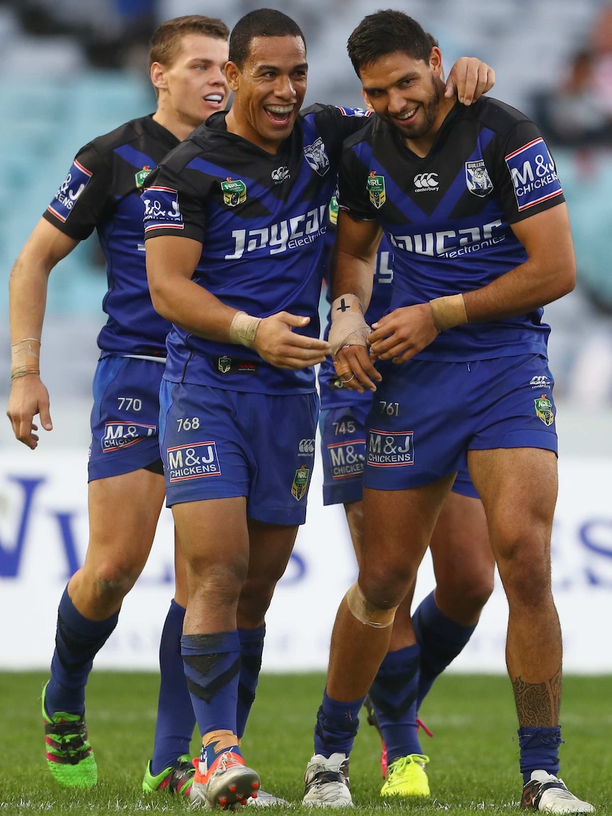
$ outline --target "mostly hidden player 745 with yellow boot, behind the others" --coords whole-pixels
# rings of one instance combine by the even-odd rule
[[[328,243],[333,242],[338,214],[330,205]],[[330,247],[331,249],[331,247]],[[329,255],[328,255],[329,257]],[[386,237],[376,253],[368,325],[388,312],[393,281],[393,247]],[[329,278],[329,274],[326,273]],[[330,290],[327,289],[329,302]],[[326,332],[330,329],[330,314]],[[330,357],[319,367],[323,504],[342,503],[357,561],[363,545],[363,470],[366,418],[372,407],[369,390],[345,388]],[[375,397],[374,397],[375,399]],[[380,407],[380,406],[379,406]],[[437,519],[429,545],[436,588],[411,613],[413,590],[401,602],[393,621],[389,653],[366,697],[367,720],[383,741],[380,763],[382,796],[429,796],[417,730],[419,708],[436,677],[467,645],[494,585],[494,557],[482,503],[463,465]],[[405,625],[405,617],[409,623]],[[410,621],[412,623],[410,623]],[[416,642],[411,641],[412,626]],[[426,733],[428,733],[426,731]]]

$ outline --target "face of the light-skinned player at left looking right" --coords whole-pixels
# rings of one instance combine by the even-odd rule
[[[206,34],[188,33],[171,65],[155,62],[151,80],[159,99],[154,119],[184,139],[229,98],[225,78],[228,43]]]

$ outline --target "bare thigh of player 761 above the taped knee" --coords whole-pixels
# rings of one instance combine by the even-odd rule
[[[372,601],[381,591],[397,602],[406,594],[454,478],[410,490],[364,490],[359,583]]]

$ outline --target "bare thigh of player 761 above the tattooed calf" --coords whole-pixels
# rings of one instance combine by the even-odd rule
[[[485,507],[490,543],[505,563],[546,571],[557,503],[557,455],[542,448],[470,450],[470,474]]]

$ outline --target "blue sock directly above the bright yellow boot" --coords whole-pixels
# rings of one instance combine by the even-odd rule
[[[389,765],[400,756],[422,753],[416,725],[419,654],[418,643],[388,652],[370,687]]]

